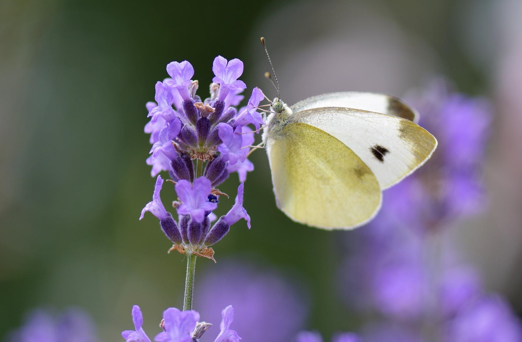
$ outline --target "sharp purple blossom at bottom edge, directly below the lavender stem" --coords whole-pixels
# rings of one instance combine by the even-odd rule
[[[191,342],[192,332],[199,321],[199,313],[194,310],[180,311],[169,308],[163,311],[163,329],[154,338],[157,342]]]

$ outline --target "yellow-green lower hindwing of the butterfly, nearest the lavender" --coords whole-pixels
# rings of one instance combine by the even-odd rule
[[[369,167],[346,144],[298,122],[284,139],[268,139],[277,206],[294,221],[324,229],[351,229],[375,216],[381,190]]]

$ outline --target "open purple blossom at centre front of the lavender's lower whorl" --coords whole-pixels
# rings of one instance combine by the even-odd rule
[[[191,219],[197,223],[203,222],[205,211],[212,211],[217,208],[216,203],[208,202],[210,194],[210,181],[205,177],[194,180],[194,185],[186,180],[180,180],[175,186],[176,194],[180,197],[182,205],[177,208],[180,215],[190,215]]]

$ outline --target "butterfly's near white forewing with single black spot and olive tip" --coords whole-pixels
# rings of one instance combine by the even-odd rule
[[[375,175],[382,189],[419,168],[437,146],[424,128],[398,116],[351,108],[325,107],[294,113],[348,146]]]

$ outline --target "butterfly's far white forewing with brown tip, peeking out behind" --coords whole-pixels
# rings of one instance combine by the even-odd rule
[[[385,94],[363,91],[339,91],[312,96],[293,104],[294,113],[321,107],[343,107],[395,115],[418,122],[419,114],[401,99]]]

